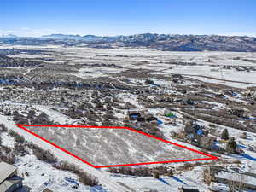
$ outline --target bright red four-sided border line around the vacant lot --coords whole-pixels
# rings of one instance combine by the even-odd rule
[[[94,168],[105,168],[105,167],[117,167],[117,166],[141,166],[141,165],[151,165],[151,164],[163,164],[163,163],[173,163],[173,162],[187,162],[187,161],[197,161],[197,160],[218,160],[218,157],[213,156],[211,154],[205,154],[201,151],[195,150],[194,148],[188,148],[186,146],[177,144],[177,143],[173,143],[170,141],[167,141],[165,139],[162,139],[160,137],[154,137],[152,135],[149,135],[148,133],[144,133],[143,131],[137,131],[135,129],[132,129],[130,127],[125,127],[125,126],[83,126],[83,125],[20,125],[20,124],[16,124],[16,126],[18,126],[20,129],[32,134],[35,137],[40,138],[41,140],[43,140],[46,143],[49,143],[50,145],[53,145],[55,148],[59,148],[61,151],[65,152],[66,154],[69,154],[71,156],[73,156],[74,158],[84,162],[85,164],[92,166]],[[60,146],[56,145],[55,143],[52,143],[50,141],[48,141],[47,139],[45,139],[44,137],[38,136],[38,134],[26,129],[24,126],[46,126],[46,127],[69,127],[69,128],[96,128],[96,129],[125,129],[125,130],[129,130],[129,131],[134,131],[137,132],[139,134],[142,134],[144,136],[148,136],[151,138],[154,138],[156,140],[159,140],[161,142],[164,143],[169,143],[172,145],[175,145],[179,148],[185,148],[189,151],[195,152],[197,154],[202,154],[204,156],[207,156],[207,158],[200,158],[200,159],[190,159],[190,160],[166,160],[166,161],[155,161],[155,162],[145,162],[145,163],[133,163],[133,164],[122,164],[122,165],[109,165],[109,166],[94,166],[92,164],[90,164],[90,162],[83,160],[82,158],[80,158],[79,156],[72,154],[71,152],[67,151],[65,148],[61,148]]]

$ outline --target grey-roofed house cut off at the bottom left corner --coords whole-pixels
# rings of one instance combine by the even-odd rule
[[[23,188],[23,178],[17,176],[17,168],[5,162],[0,163],[0,192],[17,192],[20,189],[28,192],[30,189]]]

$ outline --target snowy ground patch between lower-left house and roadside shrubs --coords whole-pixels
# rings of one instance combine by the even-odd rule
[[[79,178],[73,173],[56,170],[51,165],[38,160],[31,154],[20,157],[15,166],[18,166],[18,174],[24,177],[23,183],[30,186],[32,191],[35,192],[42,191],[45,188],[60,192],[89,192],[94,190],[80,183]],[[76,186],[79,188],[75,189]]]

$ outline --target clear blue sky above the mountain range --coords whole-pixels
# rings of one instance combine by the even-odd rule
[[[1,0],[0,34],[256,37],[256,0]]]

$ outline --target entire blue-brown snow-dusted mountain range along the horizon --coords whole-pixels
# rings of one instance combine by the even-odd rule
[[[168,35],[143,33],[130,36],[52,34],[41,38],[0,38],[0,44],[88,46],[92,48],[131,47],[169,51],[256,52],[256,38],[220,35]]]

